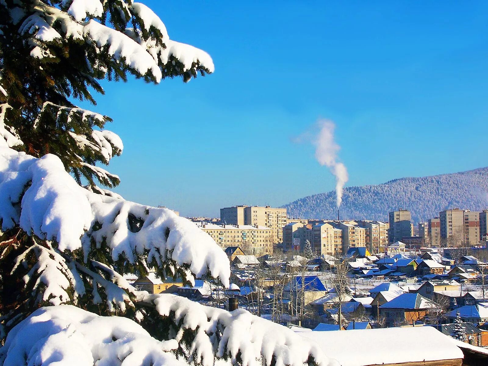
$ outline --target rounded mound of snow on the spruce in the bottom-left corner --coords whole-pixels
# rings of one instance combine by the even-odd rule
[[[0,348],[3,366],[185,366],[171,352],[174,340],[158,341],[141,325],[102,317],[72,305],[43,307],[16,325]]]

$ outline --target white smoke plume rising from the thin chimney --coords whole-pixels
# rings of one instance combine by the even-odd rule
[[[319,120],[315,133],[311,135],[311,142],[315,145],[315,158],[321,165],[325,165],[336,177],[336,202],[337,208],[342,203],[344,184],[349,176],[346,165],[337,161],[337,152],[341,147],[334,141],[335,124],[329,120]]]

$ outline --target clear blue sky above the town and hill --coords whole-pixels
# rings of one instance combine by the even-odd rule
[[[346,186],[488,165],[487,1],[143,1],[216,71],[104,83],[115,191],[182,215],[334,189],[296,144],[336,122]]]

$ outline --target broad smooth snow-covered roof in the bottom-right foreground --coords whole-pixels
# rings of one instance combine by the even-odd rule
[[[463,359],[452,339],[431,326],[303,332],[342,366],[403,364]],[[391,345],[394,340],[394,350]],[[372,346],[377,345],[377,346]],[[353,347],[353,350],[351,350]]]

